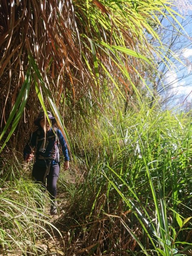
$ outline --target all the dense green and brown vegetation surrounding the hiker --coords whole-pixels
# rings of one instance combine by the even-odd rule
[[[191,113],[162,111],[145,83],[171,4],[0,3],[1,255],[192,255]],[[22,160],[40,109],[71,153],[55,219]]]

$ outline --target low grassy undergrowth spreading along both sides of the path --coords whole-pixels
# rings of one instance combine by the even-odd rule
[[[28,168],[3,166],[2,255],[192,255],[189,114],[143,108],[108,122],[101,117],[83,143],[74,137],[78,154],[60,173],[57,216],[47,214],[47,193]]]

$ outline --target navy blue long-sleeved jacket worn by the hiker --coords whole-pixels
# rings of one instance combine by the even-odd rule
[[[57,136],[55,136],[57,134]],[[63,137],[63,134],[59,129],[56,129],[56,133],[52,128],[44,136],[44,131],[39,127],[32,133],[28,143],[23,149],[23,158],[26,160],[28,154],[31,154],[33,150],[35,153],[35,163],[39,166],[46,166],[46,159],[51,160],[51,166],[55,163],[59,163],[58,145],[61,145],[61,149],[64,154],[64,161],[69,161],[69,155],[67,150],[67,143]],[[45,140],[46,139],[46,140]]]

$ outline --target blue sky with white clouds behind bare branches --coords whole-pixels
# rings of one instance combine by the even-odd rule
[[[175,56],[180,58],[183,64],[176,61],[175,66],[171,65],[166,73],[166,83],[175,94],[173,105],[183,101],[192,102],[192,1],[177,0],[177,2],[180,2],[180,13],[186,18],[184,21],[186,33],[183,32],[183,36],[180,37],[181,44],[177,44],[178,49],[175,51]]]

